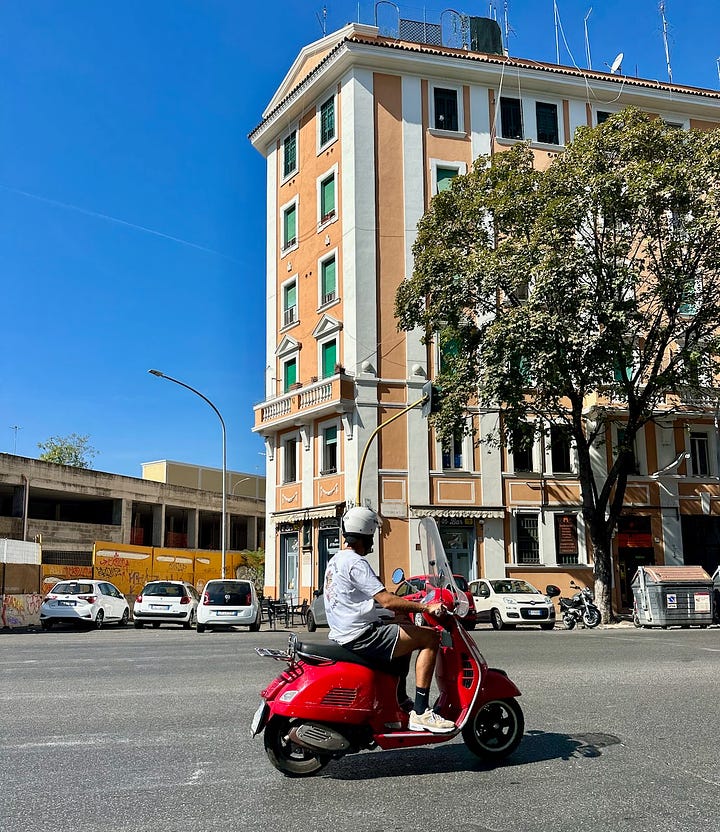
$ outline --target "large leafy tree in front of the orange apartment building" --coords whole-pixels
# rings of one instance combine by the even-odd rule
[[[439,340],[441,438],[467,424],[469,404],[500,414],[478,439],[511,449],[548,424],[567,430],[608,621],[635,437],[683,402],[717,398],[706,385],[720,353],[720,131],[628,109],[579,129],[546,170],[533,161],[526,144],[480,158],[433,199],[396,314]],[[598,466],[611,421],[620,439]]]

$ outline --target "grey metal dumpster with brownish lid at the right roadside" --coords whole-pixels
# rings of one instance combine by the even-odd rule
[[[713,579],[701,566],[640,566],[631,585],[636,627],[713,623]]]

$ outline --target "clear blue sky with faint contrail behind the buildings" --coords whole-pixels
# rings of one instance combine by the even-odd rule
[[[94,467],[264,471],[265,165],[247,140],[303,45],[374,3],[2,0],[0,452],[87,434]],[[503,2],[496,4],[502,15]],[[490,4],[453,3],[487,15]],[[558,0],[560,62],[667,80],[656,0]],[[380,7],[380,22],[392,7]],[[412,19],[448,6],[401,4]],[[717,90],[718,0],[667,0],[673,81]],[[554,61],[552,0],[509,0],[510,54]],[[567,47],[563,43],[567,41]],[[14,430],[17,426],[18,430]]]

